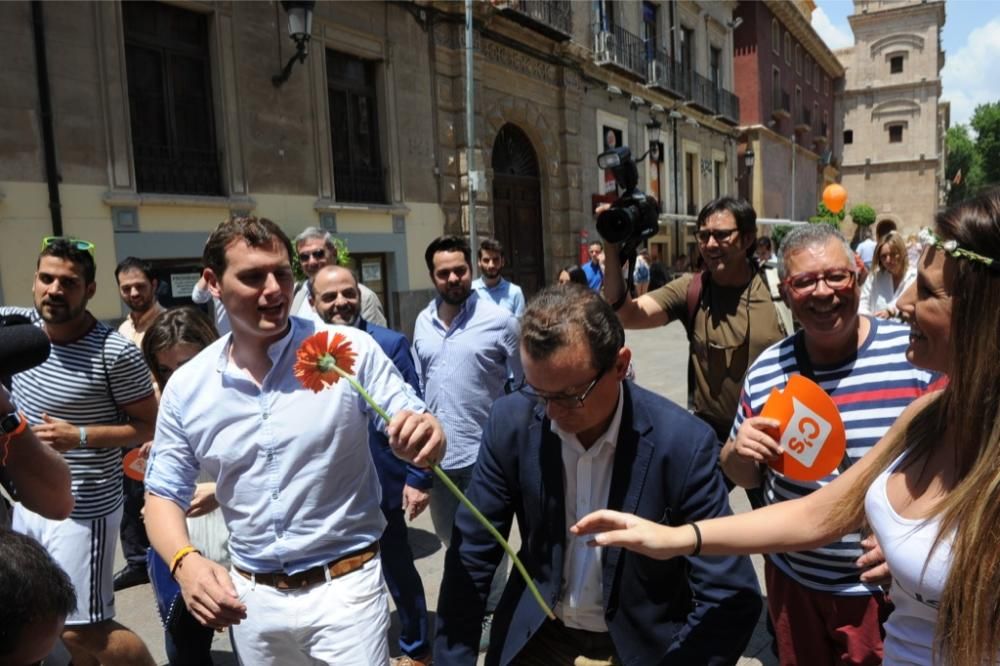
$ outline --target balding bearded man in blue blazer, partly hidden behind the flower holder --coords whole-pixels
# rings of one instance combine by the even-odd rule
[[[310,304],[327,324],[353,326],[372,336],[403,379],[420,390],[409,340],[402,333],[364,320],[358,281],[350,270],[342,266],[324,266],[316,271]],[[386,436],[370,423],[368,446],[382,487],[381,508],[386,519],[385,532],[379,539],[382,571],[399,611],[399,649],[403,656],[391,659],[390,666],[426,666],[430,663],[431,652],[427,637],[427,601],[423,581],[413,566],[406,513],[409,512],[413,520],[427,508],[428,491],[433,485],[431,473],[397,458]]]

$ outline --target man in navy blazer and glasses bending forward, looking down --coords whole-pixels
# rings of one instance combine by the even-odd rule
[[[469,499],[504,534],[557,619],[517,573],[493,616],[489,666],[732,664],[760,613],[746,557],[653,560],[600,549],[569,527],[619,508],[670,525],[730,513],[712,430],[625,380],[631,351],[611,307],[580,285],[549,287],[521,321],[524,382],[483,432]],[[476,663],[501,547],[464,507],[445,557],[437,666]]]

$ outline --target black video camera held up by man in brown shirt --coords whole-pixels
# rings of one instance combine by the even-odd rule
[[[619,245],[624,265],[635,256],[639,245],[659,230],[660,204],[638,189],[639,170],[628,146],[601,153],[597,156],[597,166],[611,169],[618,189],[622,190],[611,208],[597,216],[597,233],[607,242]]]

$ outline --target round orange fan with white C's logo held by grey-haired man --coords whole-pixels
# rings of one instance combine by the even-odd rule
[[[779,421],[769,433],[784,454],[771,467],[796,481],[818,481],[844,459],[847,434],[837,406],[826,392],[802,375],[792,375],[784,391],[771,389],[761,416]]]

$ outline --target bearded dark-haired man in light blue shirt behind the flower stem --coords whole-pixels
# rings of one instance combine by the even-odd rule
[[[458,236],[441,236],[427,246],[424,260],[438,297],[417,316],[413,332],[420,388],[448,437],[441,468],[462,490],[472,479],[490,408],[504,395],[507,377],[522,375],[517,318],[472,290],[471,254]],[[445,545],[457,508],[458,500],[443,485],[431,489],[431,521]],[[503,591],[504,572],[501,565],[488,613]],[[487,615],[485,622],[490,619]]]

